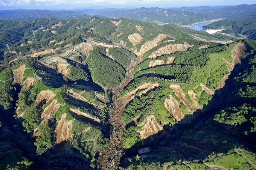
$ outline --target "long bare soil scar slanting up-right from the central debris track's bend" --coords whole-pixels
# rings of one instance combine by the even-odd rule
[[[130,101],[132,101],[133,99],[134,99],[134,94],[136,94],[137,93],[137,91],[139,91],[139,90],[142,90],[142,89],[146,89],[145,91],[143,91],[141,94],[140,94],[140,96],[142,95],[142,94],[145,94],[145,93],[147,93],[149,90],[151,90],[151,89],[154,89],[155,87],[159,87],[160,86],[160,84],[159,83],[144,83],[144,84],[142,84],[141,86],[139,86],[139,87],[137,87],[137,89],[135,89],[135,90],[133,90],[132,92],[130,92],[130,93],[127,93],[125,96],[123,96],[123,101],[125,102],[125,103],[129,103]]]

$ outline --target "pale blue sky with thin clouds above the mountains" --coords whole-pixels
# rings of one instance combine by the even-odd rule
[[[8,9],[101,9],[140,7],[224,6],[255,4],[255,0],[0,0],[0,10]]]

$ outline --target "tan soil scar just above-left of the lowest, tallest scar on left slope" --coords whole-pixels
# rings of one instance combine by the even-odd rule
[[[41,123],[47,123],[48,120],[55,115],[59,107],[60,104],[58,104],[57,99],[53,100],[41,114],[41,119],[43,119]]]

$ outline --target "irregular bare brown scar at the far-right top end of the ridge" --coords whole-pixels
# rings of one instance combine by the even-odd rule
[[[233,71],[236,64],[241,63],[241,59],[245,58],[249,54],[249,53],[245,53],[245,51],[246,51],[246,47],[244,44],[242,43],[236,44],[233,50],[231,51],[233,62],[230,63],[226,59],[223,59],[230,72]]]

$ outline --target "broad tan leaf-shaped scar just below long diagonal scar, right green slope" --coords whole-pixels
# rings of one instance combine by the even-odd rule
[[[170,95],[170,99],[165,99],[165,107],[171,113],[176,121],[183,119],[184,114],[180,109],[179,102]]]

